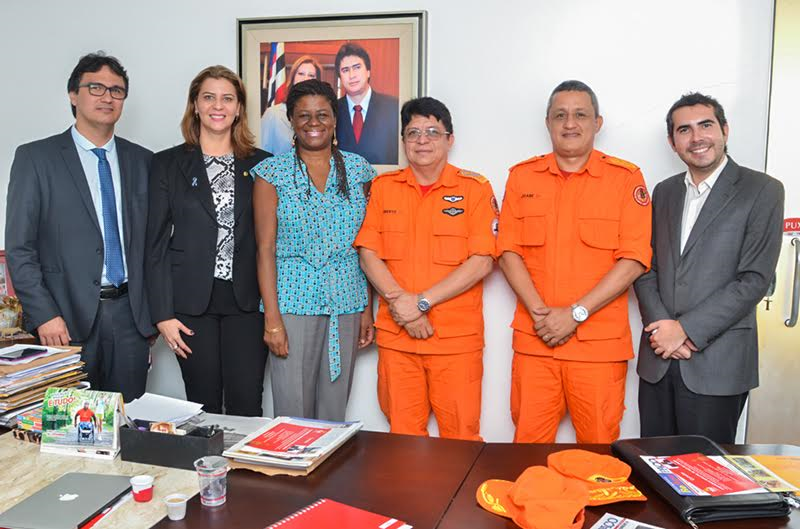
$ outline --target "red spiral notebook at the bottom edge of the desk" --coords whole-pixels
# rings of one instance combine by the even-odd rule
[[[323,498],[266,529],[411,529],[400,520]]]

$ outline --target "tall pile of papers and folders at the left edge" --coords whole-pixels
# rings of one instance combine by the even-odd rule
[[[86,387],[80,349],[12,345],[0,349],[0,426],[42,405],[50,386]]]

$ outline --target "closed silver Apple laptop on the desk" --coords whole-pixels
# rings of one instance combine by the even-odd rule
[[[75,529],[131,490],[130,476],[64,474],[0,514],[7,529]]]

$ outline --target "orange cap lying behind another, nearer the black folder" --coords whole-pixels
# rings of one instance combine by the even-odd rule
[[[589,505],[647,501],[647,497],[628,481],[631,467],[616,457],[586,450],[562,450],[547,456],[547,466],[566,478],[586,483]]]

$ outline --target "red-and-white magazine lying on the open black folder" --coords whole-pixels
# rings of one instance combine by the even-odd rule
[[[694,453],[641,458],[681,496],[766,492],[724,456]]]

